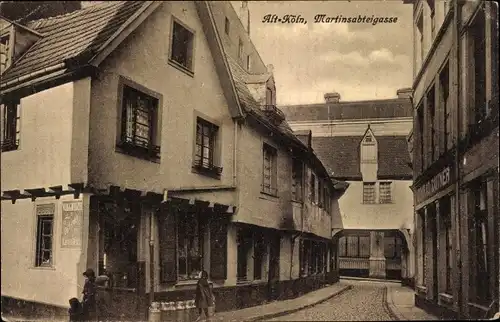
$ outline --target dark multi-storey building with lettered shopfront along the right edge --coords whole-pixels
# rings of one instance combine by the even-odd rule
[[[414,1],[415,303],[489,318],[499,304],[498,9]]]

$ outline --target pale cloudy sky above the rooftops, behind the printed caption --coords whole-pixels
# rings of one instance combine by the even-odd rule
[[[239,12],[240,1],[231,2]],[[278,105],[395,98],[412,81],[412,6],[400,0],[249,1],[250,37],[274,66]],[[267,14],[307,24],[263,23]],[[314,16],[397,17],[396,23],[314,23]]]

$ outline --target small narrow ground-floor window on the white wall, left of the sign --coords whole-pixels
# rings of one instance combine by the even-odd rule
[[[35,266],[51,267],[53,264],[54,211],[51,205],[38,205]]]

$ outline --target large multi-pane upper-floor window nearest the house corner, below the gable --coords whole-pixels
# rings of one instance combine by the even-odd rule
[[[122,147],[128,148],[129,152],[159,157],[160,147],[154,144],[157,115],[158,99],[124,85]]]

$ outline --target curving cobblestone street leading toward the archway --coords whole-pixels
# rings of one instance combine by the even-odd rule
[[[385,288],[393,283],[346,281],[353,285],[339,296],[293,314],[268,321],[391,321]]]

